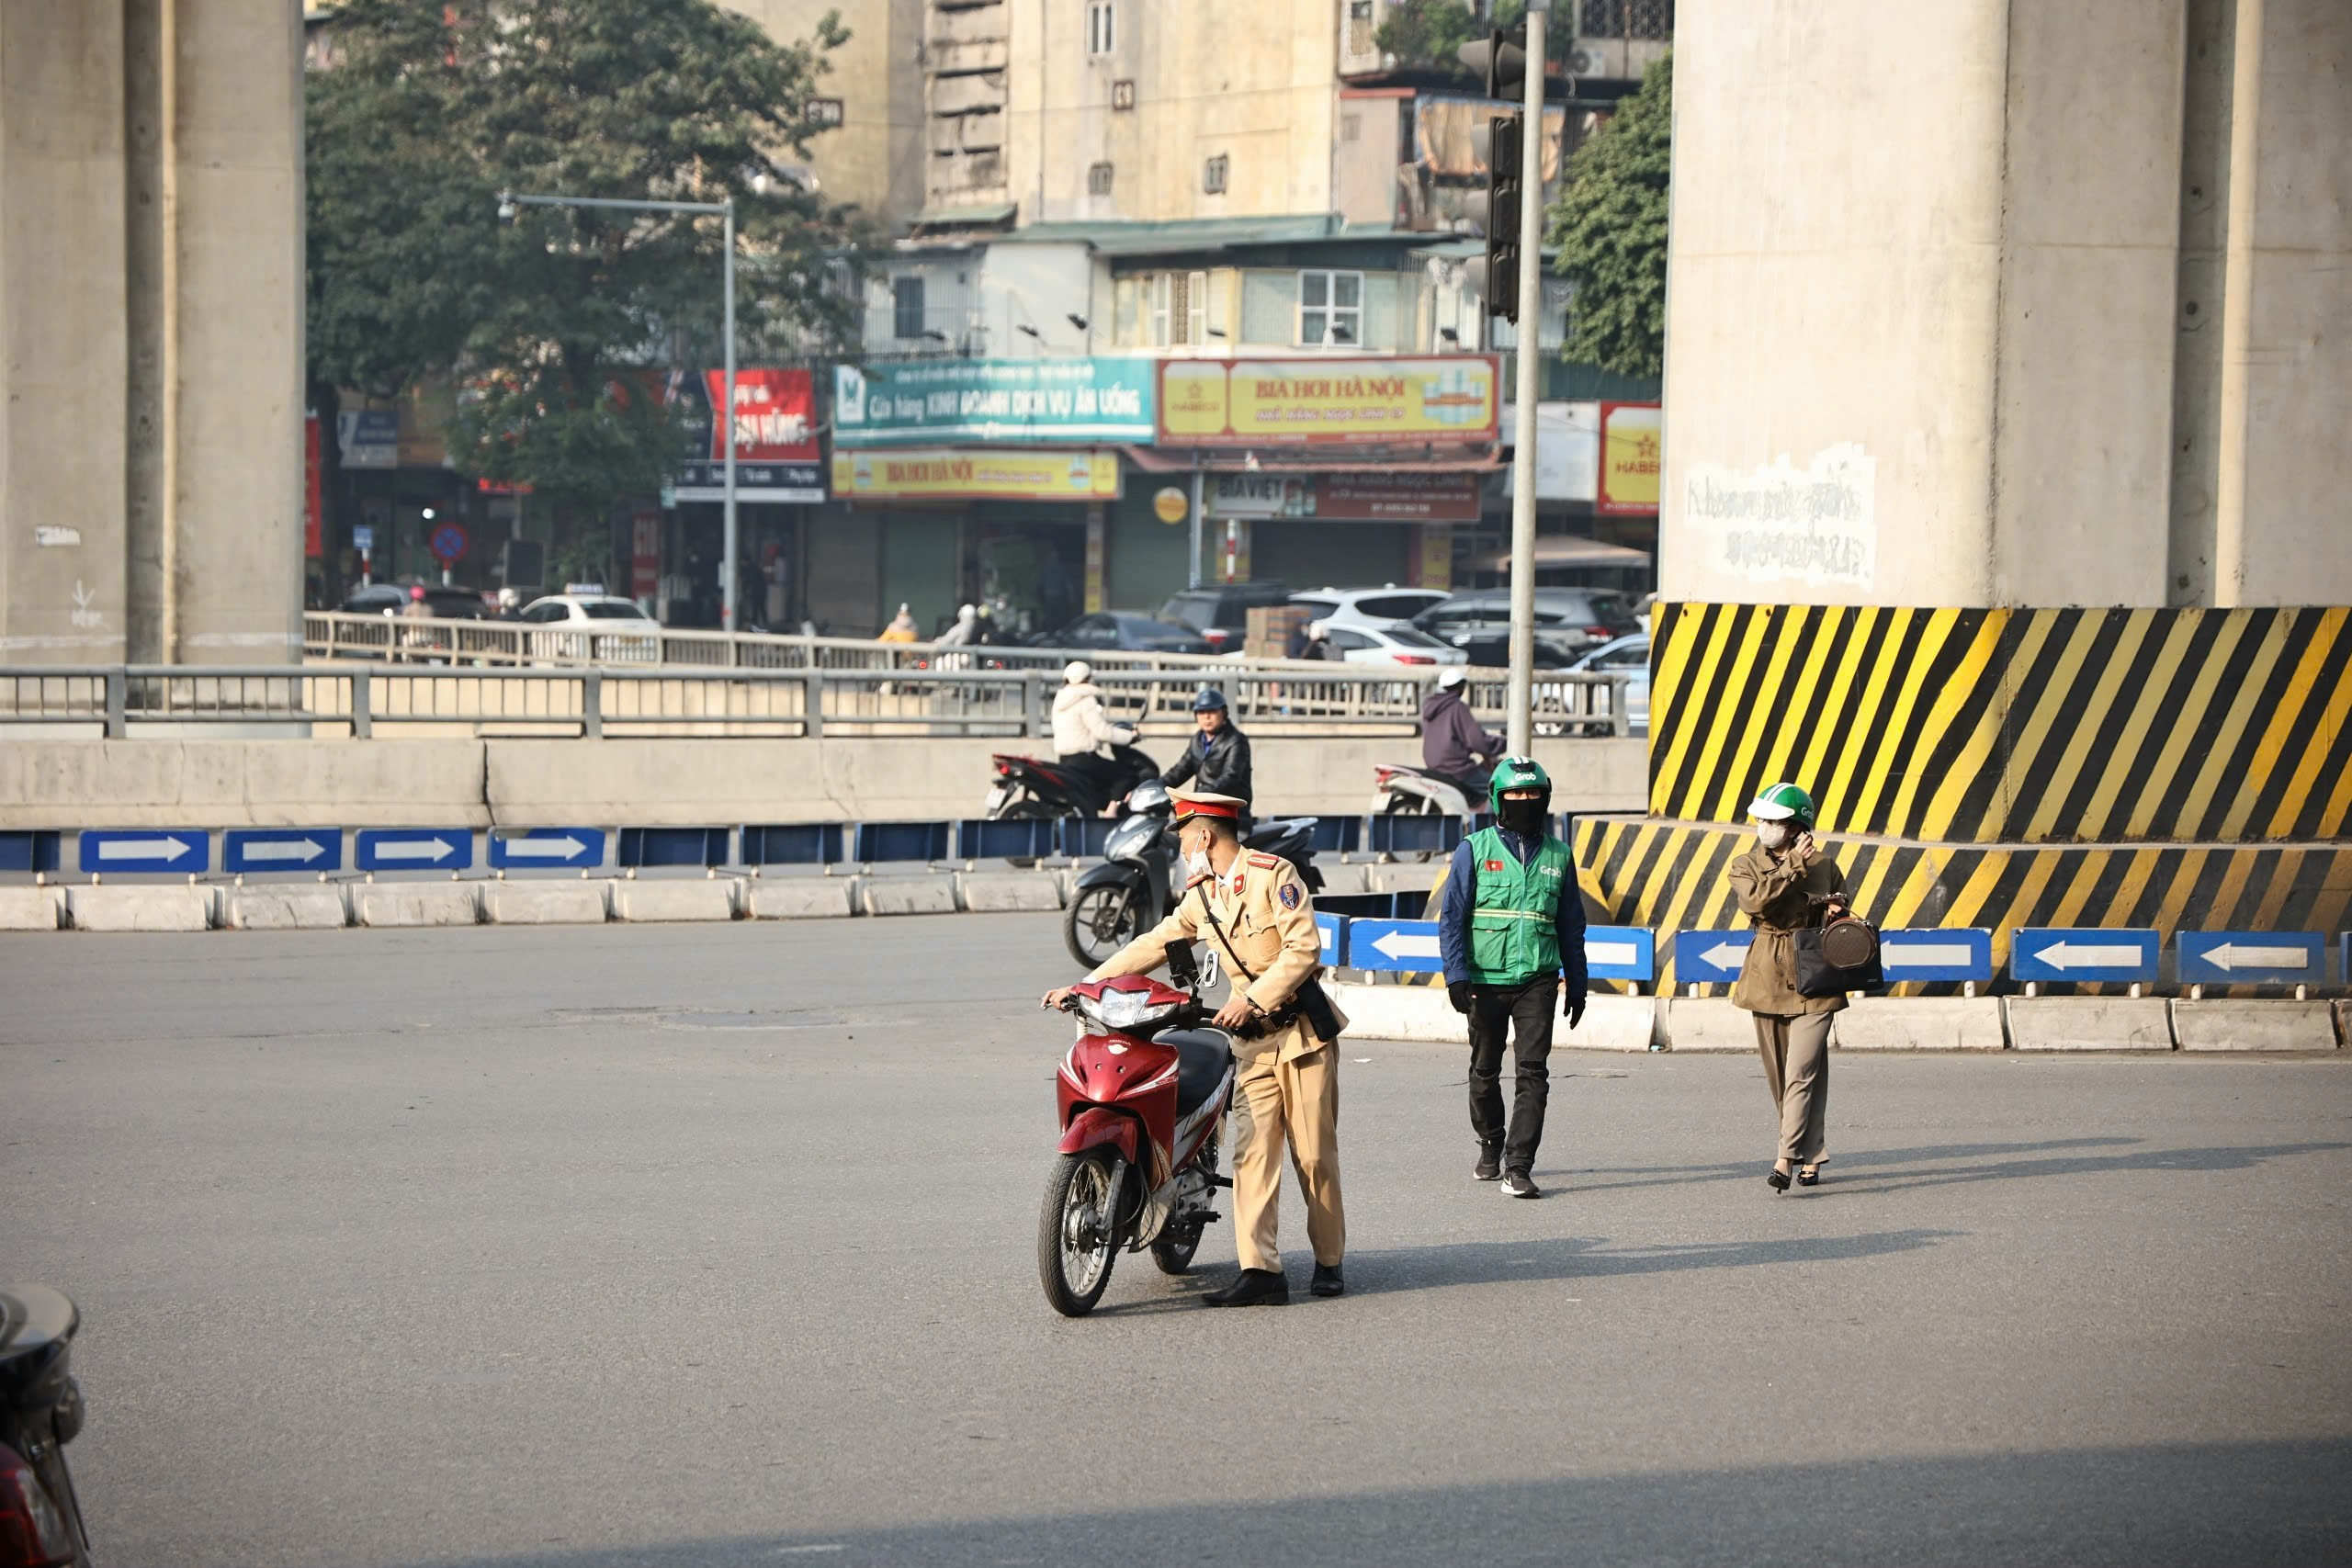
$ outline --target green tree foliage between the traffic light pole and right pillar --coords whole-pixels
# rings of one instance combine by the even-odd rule
[[[1665,369],[1665,183],[1675,132],[1675,56],[1618,101],[1569,160],[1548,214],[1548,242],[1576,289],[1564,357],[1621,376]]]

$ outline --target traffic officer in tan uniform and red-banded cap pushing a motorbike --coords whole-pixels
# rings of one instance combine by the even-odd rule
[[[1232,976],[1216,1027],[1232,1032],[1232,1208],[1242,1276],[1202,1298],[1209,1307],[1277,1307],[1291,1300],[1275,1246],[1282,1145],[1291,1147],[1308,1199],[1315,1295],[1338,1295],[1348,1220],[1338,1197],[1338,1032],[1348,1020],[1317,985],[1322,936],[1308,886],[1282,856],[1242,849],[1249,802],[1169,790],[1190,884],[1176,910],[1103,959],[1089,980],[1157,969],[1176,943],[1207,940]],[[1068,992],[1047,994],[1054,1006]]]

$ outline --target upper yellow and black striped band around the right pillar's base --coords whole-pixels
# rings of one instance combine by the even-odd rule
[[[1788,778],[1820,804],[1823,830],[1893,839],[2343,837],[2347,621],[2352,609],[1661,604],[1649,809],[1736,823],[1759,788]],[[2016,889],[2079,879],[1999,865],[2020,870],[1966,860],[1952,896],[1985,877]],[[2187,879],[2211,865],[2199,858]],[[2230,877],[2213,870],[2213,889]],[[2100,863],[2089,879],[2112,896],[2133,875]],[[2082,896],[2100,898],[2096,886]],[[1997,903],[1990,886],[1983,900]]]

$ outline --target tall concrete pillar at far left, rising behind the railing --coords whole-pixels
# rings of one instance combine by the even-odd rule
[[[301,646],[301,12],[0,7],[0,658]]]

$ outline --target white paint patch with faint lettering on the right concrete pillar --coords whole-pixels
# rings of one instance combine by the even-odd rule
[[[1804,468],[1788,454],[1745,473],[1696,463],[1682,515],[1731,576],[1867,590],[1879,557],[1877,468],[1856,442],[1825,447]]]

